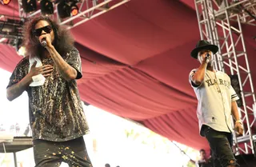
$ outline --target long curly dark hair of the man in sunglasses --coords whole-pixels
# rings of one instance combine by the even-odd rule
[[[64,55],[74,48],[74,38],[71,36],[70,31],[66,30],[64,26],[59,26],[58,23],[51,18],[41,15],[27,20],[24,26],[23,46],[26,47],[26,56],[42,56],[42,53],[46,50],[38,42],[33,32],[35,25],[42,20],[49,22],[54,30],[53,46],[60,55]]]

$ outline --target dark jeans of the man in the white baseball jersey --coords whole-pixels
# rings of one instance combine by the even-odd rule
[[[206,125],[203,127],[203,133],[210,144],[212,156],[217,160],[214,161],[215,167],[239,166],[231,149],[233,144],[232,133],[219,132]]]

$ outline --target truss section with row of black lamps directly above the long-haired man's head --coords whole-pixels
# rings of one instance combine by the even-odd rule
[[[98,17],[130,0],[18,0],[20,18],[48,15],[68,29]]]

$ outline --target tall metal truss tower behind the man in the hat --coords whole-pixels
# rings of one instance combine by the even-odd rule
[[[256,102],[251,78],[242,24],[256,26],[256,0],[194,0],[201,39],[217,45],[214,68],[237,74],[241,90],[242,106],[239,107],[244,133],[236,137],[236,154],[255,153],[255,135],[251,129],[256,121]],[[233,122],[234,123],[234,122]]]

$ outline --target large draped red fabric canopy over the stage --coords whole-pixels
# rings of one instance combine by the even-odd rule
[[[16,1],[1,5],[0,14],[18,16]],[[249,60],[255,62],[255,31],[244,29]],[[71,32],[82,57],[83,101],[170,140],[208,149],[198,133],[197,99],[188,82],[199,65],[190,57],[200,39],[194,1],[131,0]],[[20,59],[13,47],[0,45],[1,68],[12,71]],[[256,66],[250,69],[255,76]]]

